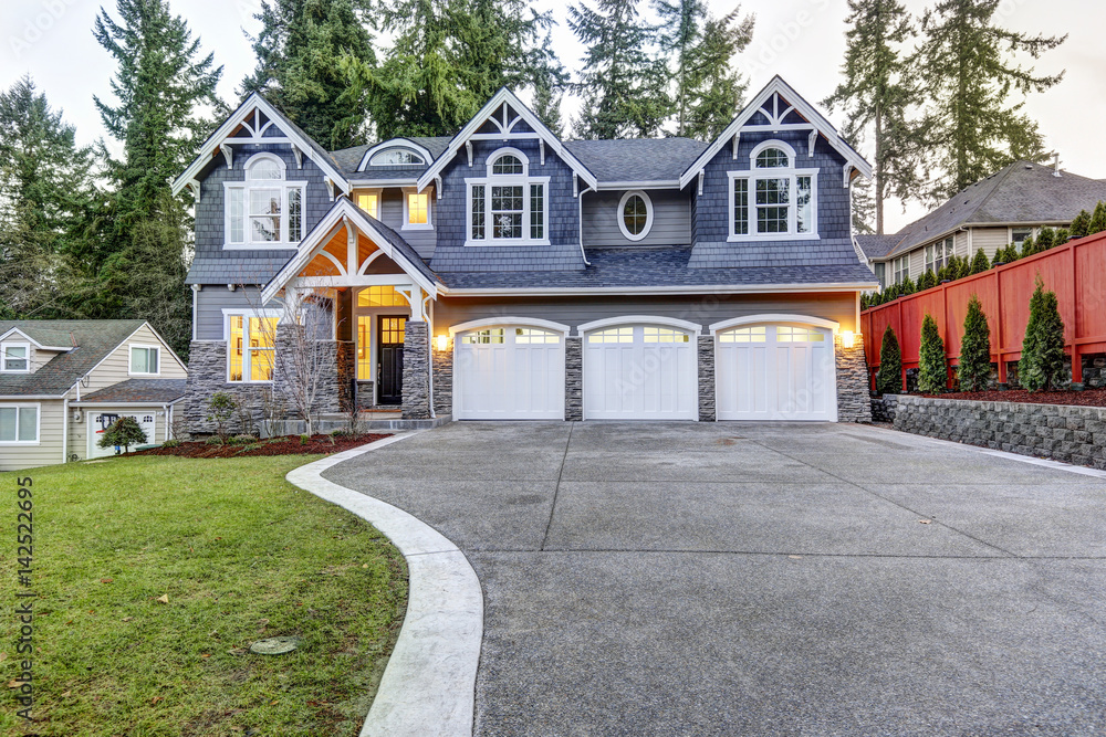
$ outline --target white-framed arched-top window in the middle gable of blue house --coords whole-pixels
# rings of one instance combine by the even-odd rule
[[[531,177],[518,149],[488,157],[487,176],[465,180],[469,192],[466,245],[545,245],[549,177]]]

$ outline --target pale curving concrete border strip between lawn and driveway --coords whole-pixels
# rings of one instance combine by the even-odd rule
[[[365,519],[407,559],[407,614],[361,737],[470,737],[483,594],[468,559],[429,525],[323,478],[344,461],[410,438],[396,434],[289,472],[289,482]]]

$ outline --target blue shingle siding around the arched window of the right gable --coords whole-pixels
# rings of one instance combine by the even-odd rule
[[[727,242],[730,233],[730,183],[728,171],[748,171],[753,148],[765,140],[782,140],[795,149],[795,167],[818,169],[817,220],[818,240],[814,241],[742,241]],[[707,164],[702,194],[693,197],[691,251],[689,266],[711,267],[771,267],[824,266],[857,263],[849,225],[849,194],[843,186],[845,159],[822,137],[814,146],[814,157],[808,156],[810,138],[803,131],[779,134],[743,134],[738,158],[732,157],[732,143],[722,147]],[[698,187],[693,182],[692,187]]]

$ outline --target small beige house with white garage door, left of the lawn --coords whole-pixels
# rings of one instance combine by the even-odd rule
[[[122,415],[168,438],[184,361],[144,320],[0,320],[0,471],[113,454]]]

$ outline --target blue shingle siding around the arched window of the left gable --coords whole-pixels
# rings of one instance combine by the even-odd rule
[[[273,129],[274,126],[269,128]],[[206,167],[200,182],[200,201],[196,204],[196,255],[188,271],[189,284],[265,282],[295,253],[291,249],[222,248],[226,240],[223,182],[242,181],[246,178],[243,166],[254,154],[275,154],[286,165],[289,180],[307,182],[303,208],[304,233],[319,222],[332,204],[328,188],[323,181],[323,171],[306,156],[303,157],[303,168],[298,169],[290,145],[239,144],[232,148],[234,168],[228,169],[226,159],[221,155],[216,156]]]

